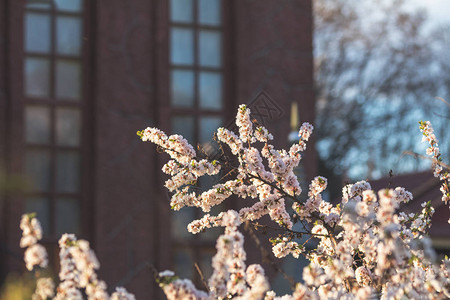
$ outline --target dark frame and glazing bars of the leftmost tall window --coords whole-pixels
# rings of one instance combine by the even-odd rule
[[[51,2],[53,3],[53,2]],[[50,9],[40,8],[27,8],[26,3],[21,3],[20,11],[20,25],[17,24],[15,32],[19,32],[22,37],[18,42],[17,47],[20,48],[20,52],[15,56],[17,62],[17,74],[16,77],[23,82],[19,89],[15,90],[15,94],[21,99],[19,111],[21,125],[18,126],[20,130],[20,148],[17,159],[21,161],[20,168],[21,173],[25,174],[25,158],[26,153],[29,150],[45,150],[50,153],[50,188],[45,192],[26,192],[22,197],[22,212],[25,211],[25,201],[29,197],[45,197],[49,201],[49,228],[50,232],[44,233],[42,239],[43,244],[50,247],[51,257],[57,256],[57,251],[54,251],[54,247],[60,238],[56,234],[56,202],[57,198],[70,198],[75,199],[78,203],[79,209],[79,232],[78,235],[81,238],[87,238],[93,242],[94,230],[93,230],[93,215],[94,215],[94,203],[93,203],[93,108],[94,103],[93,91],[90,87],[90,82],[93,79],[93,72],[91,66],[93,64],[93,42],[94,35],[94,22],[91,20],[92,12],[94,11],[94,4],[91,1],[82,1],[81,11],[68,12],[68,11],[56,11],[53,4],[50,5]],[[50,50],[48,53],[38,53],[33,51],[27,51],[25,45],[25,17],[26,13],[47,14],[50,17]],[[57,28],[56,22],[58,17],[77,17],[81,23],[81,37],[80,37],[80,52],[76,55],[67,55],[57,53]],[[19,22],[17,22],[19,23]],[[45,58],[49,60],[49,95],[48,97],[34,97],[26,94],[25,86],[25,59],[31,58]],[[74,61],[79,62],[80,68],[80,95],[78,99],[66,99],[57,97],[56,94],[56,63],[57,60]],[[11,100],[13,101],[13,100]],[[26,141],[25,129],[25,109],[30,106],[45,107],[50,110],[50,141],[47,144],[30,143]],[[56,114],[59,109],[75,109],[79,113],[79,143],[78,145],[60,145],[57,144],[56,135]],[[77,153],[79,156],[79,188],[75,192],[60,192],[56,187],[56,172],[57,172],[57,156],[58,153]],[[38,216],[39,218],[39,216]]]

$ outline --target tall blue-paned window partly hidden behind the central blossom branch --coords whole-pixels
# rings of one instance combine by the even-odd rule
[[[222,5],[220,0],[170,1],[172,132],[183,135],[193,145],[202,145],[206,152],[213,151],[209,141],[222,125],[224,115]],[[211,269],[216,232],[194,236],[186,229],[200,216],[201,212],[194,208],[173,214],[174,261],[181,277],[192,278],[194,262],[206,275]]]

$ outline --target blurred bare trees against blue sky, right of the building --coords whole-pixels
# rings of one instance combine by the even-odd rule
[[[402,155],[424,153],[419,120],[432,122],[448,157],[450,107],[436,97],[448,98],[450,27],[413,2],[314,1],[317,149],[331,181],[429,167]]]

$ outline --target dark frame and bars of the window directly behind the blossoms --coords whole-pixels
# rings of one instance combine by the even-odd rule
[[[222,126],[227,125],[227,122],[231,120],[234,116],[234,111],[236,107],[236,103],[232,95],[234,94],[234,85],[232,84],[233,67],[234,65],[231,63],[233,57],[234,48],[233,45],[233,19],[232,19],[232,9],[233,5],[231,2],[226,0],[221,0],[221,22],[219,25],[203,25],[198,23],[198,2],[199,0],[193,0],[193,20],[191,23],[182,23],[182,22],[174,22],[171,20],[171,1],[167,1],[167,44],[168,44],[168,73],[167,73],[167,96],[168,96],[168,110],[167,110],[167,118],[161,119],[162,127],[168,129],[169,132],[172,132],[171,128],[171,120],[173,117],[193,117],[194,118],[194,129],[193,129],[193,139],[195,144],[194,147],[200,142],[200,120],[202,117],[221,117]],[[184,28],[191,29],[194,32],[193,38],[193,64],[192,65],[179,65],[173,64],[171,61],[171,30],[172,28]],[[221,34],[221,64],[219,67],[207,67],[200,66],[200,52],[199,52],[199,33],[200,30],[214,30],[218,31]],[[173,70],[189,70],[194,74],[194,104],[192,107],[174,107],[172,105],[172,71]],[[215,72],[221,75],[221,85],[222,85],[222,95],[221,95],[221,108],[220,109],[205,109],[200,107],[200,84],[199,77],[201,72]],[[173,132],[176,133],[176,132]],[[170,195],[169,195],[170,197]],[[224,203],[224,206],[229,206],[228,202]],[[195,218],[198,219],[203,215],[200,209],[196,209]],[[173,218],[173,212],[170,214],[170,217]],[[193,220],[191,220],[193,221]],[[173,223],[171,222],[171,226]],[[180,228],[180,230],[186,230],[186,228]],[[211,230],[211,229],[210,229]],[[171,229],[169,233],[172,235]],[[190,234],[190,233],[188,233]],[[201,238],[198,234],[192,235],[189,239],[183,240],[175,240],[173,236],[171,236],[171,262],[173,267],[175,267],[175,253],[180,251],[183,253],[184,251],[190,252],[192,255],[192,262],[202,264],[202,253],[213,253],[215,254],[216,239],[205,239]],[[202,270],[203,271],[203,270]],[[195,271],[194,268],[191,270],[194,275],[194,282],[196,284],[201,284],[199,274]]]

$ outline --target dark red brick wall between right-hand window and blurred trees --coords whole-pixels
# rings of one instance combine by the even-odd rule
[[[315,99],[311,1],[236,1],[234,6],[235,78],[239,103],[264,90],[284,111],[271,122],[279,147],[286,147],[292,101],[300,122],[314,124]],[[314,138],[303,160],[309,179],[316,175]]]

